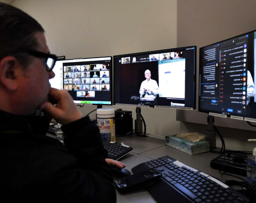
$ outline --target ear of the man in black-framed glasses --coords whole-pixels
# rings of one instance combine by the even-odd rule
[[[8,90],[15,91],[18,88],[21,65],[13,56],[6,56],[0,61],[0,83]]]

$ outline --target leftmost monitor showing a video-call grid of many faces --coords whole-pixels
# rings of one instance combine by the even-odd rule
[[[76,104],[112,105],[112,57],[56,61],[51,86],[69,91]]]

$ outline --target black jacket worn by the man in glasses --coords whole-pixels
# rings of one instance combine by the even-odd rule
[[[116,202],[99,129],[89,117],[47,137],[49,119],[0,111],[0,190],[6,202]]]

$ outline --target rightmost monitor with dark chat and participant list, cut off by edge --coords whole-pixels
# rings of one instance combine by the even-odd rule
[[[256,118],[256,31],[200,48],[199,111]]]

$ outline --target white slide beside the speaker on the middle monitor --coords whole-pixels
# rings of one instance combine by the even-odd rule
[[[185,99],[185,59],[158,62],[159,97]]]

